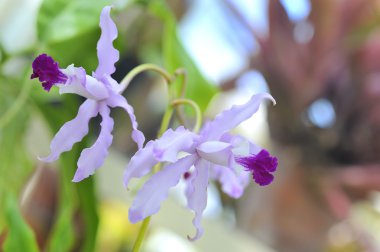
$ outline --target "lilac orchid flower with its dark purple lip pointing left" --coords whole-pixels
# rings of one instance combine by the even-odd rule
[[[114,64],[119,60],[119,52],[112,44],[117,37],[117,28],[110,17],[110,9],[110,6],[104,7],[100,15],[101,36],[97,44],[99,65],[92,76],[87,75],[82,67],[74,65],[60,69],[58,63],[46,54],[39,55],[32,64],[31,78],[39,78],[46,91],[57,86],[60,94],[75,93],[87,98],[79,107],[77,116],[66,122],[55,135],[50,144],[50,155],[40,158],[42,161],[53,162],[61,153],[71,150],[75,143],[88,134],[90,119],[98,114],[102,117],[98,139],[90,148],[84,149],[79,157],[74,182],[92,175],[108,155],[114,125],[110,108],[121,107],[128,113],[132,123],[132,139],[139,148],[145,141],[143,133],[137,129],[133,108],[121,95],[124,88],[111,77],[115,72]]]

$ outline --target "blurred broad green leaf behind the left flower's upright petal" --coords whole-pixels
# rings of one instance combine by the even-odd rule
[[[62,68],[74,64],[89,73],[95,70],[100,12],[109,2],[45,0],[37,19],[44,53],[53,56]]]

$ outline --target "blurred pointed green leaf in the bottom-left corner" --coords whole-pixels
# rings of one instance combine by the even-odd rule
[[[25,223],[17,197],[12,193],[8,193],[5,197],[5,217],[8,234],[3,246],[4,251],[39,251],[34,233]]]

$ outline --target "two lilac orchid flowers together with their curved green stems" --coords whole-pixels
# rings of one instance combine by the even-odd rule
[[[75,93],[87,98],[79,107],[77,116],[65,123],[55,135],[51,141],[50,154],[41,160],[53,162],[61,153],[71,150],[73,145],[88,133],[90,119],[100,114],[102,122],[99,137],[90,148],[82,151],[73,181],[79,182],[92,175],[102,166],[112,143],[114,121],[110,117],[110,109],[121,107],[131,119],[132,139],[138,146],[138,151],[125,169],[125,186],[128,186],[132,178],[141,178],[152,170],[155,171],[137,193],[129,210],[132,223],[144,220],[145,224],[142,225],[134,251],[139,250],[149,224],[148,217],[159,211],[161,202],[167,198],[168,190],[178,184],[181,178],[187,185],[185,195],[188,208],[195,213],[193,224],[196,234],[189,239],[199,239],[203,234],[201,217],[207,205],[207,186],[210,180],[219,181],[222,190],[232,198],[239,198],[243,194],[250,177],[260,186],[273,181],[277,158],[244,137],[231,134],[230,131],[255,114],[262,101],[270,100],[275,103],[275,100],[266,93],[254,95],[247,103],[233,106],[217,115],[214,120],[204,124],[199,133],[198,127],[193,131],[184,126],[168,128],[168,120],[164,120],[160,129],[163,134],[144,146],[144,134],[138,130],[134,110],[122,93],[131,78],[141,71],[156,70],[168,81],[172,76],[158,67],[143,65],[132,70],[132,74],[127,75],[121,84],[111,77],[115,72],[114,64],[119,59],[119,52],[113,47],[117,28],[110,17],[110,9],[109,6],[104,7],[100,15],[101,37],[97,44],[99,65],[91,76],[87,75],[82,67],[74,65],[61,69],[58,63],[46,54],[39,55],[32,64],[31,78],[38,78],[46,91],[56,86],[60,94]],[[186,103],[196,109],[196,125],[199,126],[200,110],[194,102],[175,97],[170,104],[177,106]],[[165,115],[170,119],[171,113]]]

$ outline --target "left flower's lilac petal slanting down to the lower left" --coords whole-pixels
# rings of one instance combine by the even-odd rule
[[[88,133],[88,122],[98,114],[98,104],[87,99],[80,107],[77,116],[65,123],[54,136],[50,144],[50,155],[40,158],[44,162],[53,162],[62,152],[69,151],[73,145]]]

